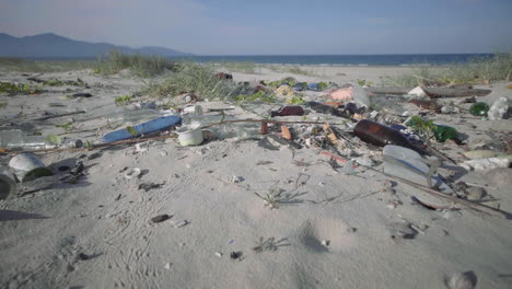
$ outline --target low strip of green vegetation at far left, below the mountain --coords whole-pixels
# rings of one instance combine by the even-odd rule
[[[22,58],[0,57],[0,70],[23,72],[62,72],[94,67],[94,60],[35,61]]]

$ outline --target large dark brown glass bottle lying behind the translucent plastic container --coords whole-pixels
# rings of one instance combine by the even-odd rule
[[[410,143],[400,131],[372,120],[359,122],[353,128],[353,134],[362,141],[374,146],[396,144],[426,154],[426,151]]]

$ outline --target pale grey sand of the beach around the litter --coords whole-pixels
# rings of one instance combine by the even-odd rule
[[[339,85],[410,72],[409,67],[302,66],[311,74],[261,68],[255,74],[232,72],[234,81],[257,82],[293,77]],[[0,72],[2,82],[27,83],[37,73]],[[60,134],[70,122],[70,138],[101,142],[113,129],[107,117],[120,109],[115,97],[131,95],[150,81],[129,71],[102,77],[92,70],[37,74],[43,80],[77,80],[89,88],[51,86],[35,95],[0,95],[2,130],[21,128]],[[490,89],[477,101],[492,105],[512,99],[512,82],[476,85]],[[91,93],[91,97],[69,97]],[[319,92],[306,92],[314,101]],[[142,95],[140,101],[144,101]],[[439,150],[455,160],[439,173],[450,183],[485,187],[480,201],[512,212],[512,169],[502,176],[467,171],[461,153],[497,141],[512,131],[512,120],[488,120],[467,113],[462,99],[441,99],[464,108],[456,114],[429,113],[441,125],[465,136],[464,144]],[[234,118],[259,118],[224,102],[199,102],[208,108],[232,108]],[[404,103],[410,112],[419,108]],[[86,113],[30,119],[84,109]],[[277,117],[281,120],[338,122],[319,113]],[[14,125],[12,125],[14,124]],[[24,124],[21,126],[20,124]],[[307,125],[304,125],[306,129]],[[100,128],[100,129],[98,129]],[[339,126],[351,130],[353,126]],[[0,200],[0,286],[2,288],[450,288],[457,274],[472,271],[475,288],[511,288],[512,221],[432,198],[400,182],[383,189],[387,177],[359,166],[356,174],[333,167],[319,149],[272,143],[259,134],[182,147],[176,139],[94,151],[37,153],[54,173],[47,189]],[[382,171],[382,148],[356,148],[349,159],[369,157]],[[7,166],[12,154],[1,154]],[[61,166],[84,164],[74,184],[61,181]],[[342,166],[342,165],[341,165]],[[138,167],[139,177],[126,177]],[[507,178],[509,177],[509,178]],[[146,185],[154,187],[144,189]],[[279,208],[269,209],[255,193],[280,189]],[[428,209],[415,198],[444,209]],[[167,215],[154,222],[152,218]],[[264,242],[263,246],[261,243]],[[473,276],[473,275],[472,275]],[[463,287],[457,287],[463,288]]]

